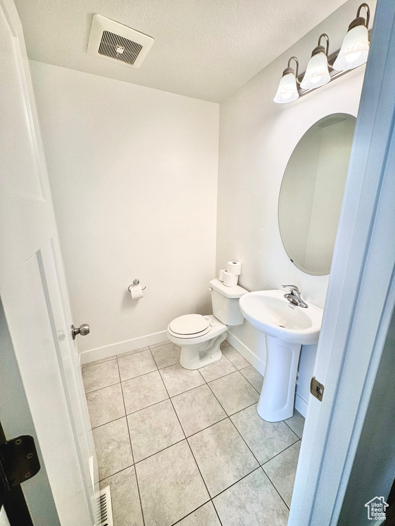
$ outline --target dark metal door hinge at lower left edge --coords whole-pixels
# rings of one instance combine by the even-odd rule
[[[0,489],[10,492],[38,471],[40,462],[32,436],[21,435],[0,444]]]

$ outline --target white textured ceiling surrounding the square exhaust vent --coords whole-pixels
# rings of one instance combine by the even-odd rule
[[[15,0],[15,3],[29,58],[220,102],[344,1]],[[154,46],[139,69],[86,53],[94,13],[154,37]]]

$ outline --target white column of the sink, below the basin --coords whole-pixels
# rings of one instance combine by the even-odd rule
[[[266,335],[267,357],[258,414],[279,422],[294,414],[296,375],[301,345]]]

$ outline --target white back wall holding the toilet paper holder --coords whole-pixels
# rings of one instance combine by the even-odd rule
[[[165,340],[174,317],[211,312],[219,105],[31,68],[74,323],[91,325],[78,346],[110,346],[83,361]]]

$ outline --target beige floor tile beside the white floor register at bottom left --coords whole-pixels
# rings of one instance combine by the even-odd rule
[[[134,467],[126,468],[100,482],[110,486],[112,518],[115,526],[143,526],[143,514]]]

